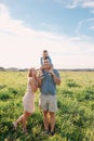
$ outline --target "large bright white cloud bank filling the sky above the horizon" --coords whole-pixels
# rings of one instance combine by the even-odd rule
[[[0,65],[39,67],[44,49],[49,50],[55,67],[93,66],[94,44],[78,37],[28,28],[23,21],[12,18],[8,8],[0,4]]]

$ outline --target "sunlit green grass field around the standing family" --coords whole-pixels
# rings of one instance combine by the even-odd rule
[[[23,114],[26,72],[0,72],[0,141],[94,141],[94,72],[61,72],[57,86],[55,134],[44,136],[39,90],[36,111],[28,119],[28,136],[13,130],[12,121]]]

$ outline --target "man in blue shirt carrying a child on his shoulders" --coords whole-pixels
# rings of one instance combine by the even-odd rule
[[[56,69],[50,64],[49,59],[44,59],[44,65],[40,68],[43,75],[39,76],[40,106],[43,110],[44,132],[54,134],[56,103],[56,85],[61,85],[61,77]],[[41,74],[42,74],[41,73]]]

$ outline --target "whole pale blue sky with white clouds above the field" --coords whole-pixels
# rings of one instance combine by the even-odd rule
[[[0,0],[0,66],[94,68],[94,0]]]

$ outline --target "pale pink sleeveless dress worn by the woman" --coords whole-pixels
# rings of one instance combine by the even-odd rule
[[[27,92],[23,98],[24,111],[28,113],[32,113],[35,111],[35,93],[31,90],[30,80],[31,77],[28,78]]]

